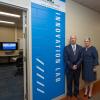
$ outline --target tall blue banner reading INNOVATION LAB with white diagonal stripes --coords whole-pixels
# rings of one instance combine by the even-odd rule
[[[31,20],[33,100],[51,100],[65,92],[65,13],[32,3]]]

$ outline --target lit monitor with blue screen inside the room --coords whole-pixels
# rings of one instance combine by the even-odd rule
[[[17,50],[16,42],[2,42],[2,50]]]

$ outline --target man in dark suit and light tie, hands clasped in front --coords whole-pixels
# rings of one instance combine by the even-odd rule
[[[67,96],[72,97],[72,86],[74,84],[74,96],[79,98],[82,47],[76,44],[76,35],[70,37],[70,44],[64,49],[64,62],[67,75]]]

